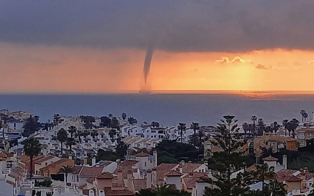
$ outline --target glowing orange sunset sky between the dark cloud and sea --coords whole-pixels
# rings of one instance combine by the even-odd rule
[[[228,57],[223,58],[223,57]],[[236,57],[236,58],[235,58]],[[2,92],[139,90],[145,51],[0,43]],[[219,61],[224,59],[224,61]],[[314,90],[314,51],[167,52],[153,55],[154,90]]]

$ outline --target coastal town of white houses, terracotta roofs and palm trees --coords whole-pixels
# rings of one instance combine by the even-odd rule
[[[314,122],[300,114],[271,124],[253,115],[238,125],[226,115],[217,125],[160,126],[126,113],[54,114],[43,123],[2,109],[0,182],[14,196],[308,196]]]

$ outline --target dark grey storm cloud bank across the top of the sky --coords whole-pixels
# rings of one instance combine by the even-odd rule
[[[314,49],[314,1],[0,2],[0,41],[170,51]]]

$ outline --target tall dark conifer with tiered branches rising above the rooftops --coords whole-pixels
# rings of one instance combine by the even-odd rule
[[[220,137],[213,143],[219,145],[223,151],[214,152],[208,164],[210,169],[217,172],[214,174],[217,180],[212,182],[215,188],[205,188],[204,196],[244,195],[249,190],[247,186],[252,183],[252,175],[245,171],[246,156],[234,152],[243,145],[235,139],[235,134],[239,131],[238,120],[235,116],[228,115],[223,116],[220,121],[217,126]],[[244,172],[239,172],[236,177],[231,176],[232,173],[242,169]]]

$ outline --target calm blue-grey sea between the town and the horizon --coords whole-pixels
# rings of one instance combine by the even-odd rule
[[[123,112],[138,123],[157,121],[162,126],[216,125],[223,115],[235,115],[239,123],[256,115],[265,123],[283,119],[301,120],[305,109],[313,119],[312,91],[151,91],[106,94],[0,94],[0,108],[24,110],[40,116],[53,114],[120,116]]]

